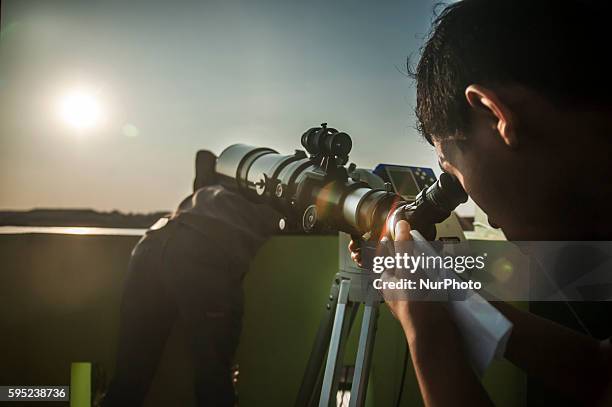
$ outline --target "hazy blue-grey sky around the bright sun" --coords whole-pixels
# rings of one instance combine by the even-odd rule
[[[431,0],[1,7],[0,210],[171,209],[198,149],[289,153],[322,122],[351,135],[359,167],[439,172],[405,72]]]

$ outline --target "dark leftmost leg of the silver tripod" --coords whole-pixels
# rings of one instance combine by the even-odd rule
[[[325,315],[321,319],[317,336],[310,352],[310,358],[306,365],[306,371],[302,378],[300,391],[295,402],[296,407],[309,407],[314,405],[315,393],[321,386],[321,368],[325,353],[329,346],[329,340],[334,323],[334,315],[338,305],[338,280],[334,280],[330,291],[330,302],[327,304]]]

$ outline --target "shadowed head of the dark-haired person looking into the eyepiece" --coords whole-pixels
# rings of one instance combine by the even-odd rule
[[[591,191],[610,177],[609,9],[463,0],[438,15],[422,49],[419,130],[511,239],[583,238],[578,212],[603,216],[606,197]]]

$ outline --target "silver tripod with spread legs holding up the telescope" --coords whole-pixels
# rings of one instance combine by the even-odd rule
[[[373,289],[366,271],[356,267],[341,267],[332,281],[326,313],[319,325],[296,407],[336,406],[344,349],[361,304],[364,305],[364,312],[349,407],[364,405],[380,302],[381,297]],[[322,371],[326,353],[325,370]]]

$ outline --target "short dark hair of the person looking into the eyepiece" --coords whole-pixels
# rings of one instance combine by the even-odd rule
[[[464,138],[470,125],[465,89],[518,84],[559,106],[611,105],[610,6],[586,0],[463,0],[433,21],[416,81],[418,129],[433,138]]]

